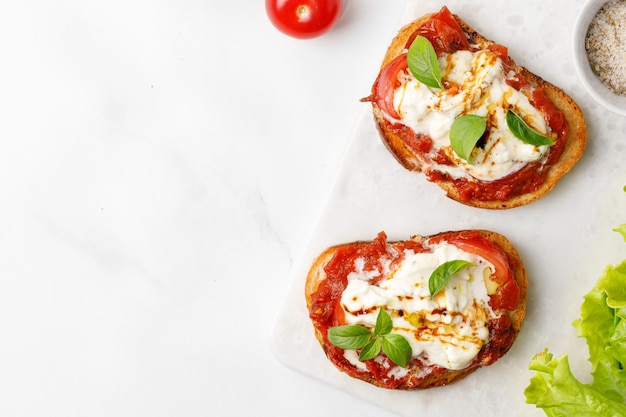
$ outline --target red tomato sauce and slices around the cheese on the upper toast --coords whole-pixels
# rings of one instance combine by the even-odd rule
[[[441,11],[433,15],[423,23],[409,38],[407,47],[417,35],[426,37],[434,46],[438,55],[453,53],[459,50],[472,50],[463,29],[454,18],[452,13],[444,6]],[[517,72],[512,60],[508,56],[508,50],[502,45],[491,45],[494,51],[503,61],[505,72]],[[406,56],[405,54],[401,56]],[[400,63],[402,58],[394,59],[375,82],[374,93],[370,100],[378,105],[395,121],[385,120],[385,128],[400,136],[403,141],[415,150],[416,155],[424,162],[434,161],[443,165],[454,165],[445,154],[439,153],[436,158],[428,155],[432,148],[432,140],[424,134],[417,135],[412,129],[405,128],[398,122],[398,114],[393,107],[393,92],[398,87],[398,71],[407,68],[406,59],[404,65]],[[393,74],[392,74],[393,73]],[[536,191],[545,182],[549,166],[554,165],[561,157],[569,126],[563,113],[557,109],[554,103],[546,96],[541,86],[531,86],[528,80],[517,73],[507,83],[525,93],[531,104],[543,115],[552,132],[556,133],[554,144],[550,146],[546,157],[539,161],[526,164],[523,168],[503,178],[493,181],[483,181],[473,177],[454,179],[446,173],[435,169],[424,168],[424,174],[429,181],[450,181],[458,190],[462,201],[506,201],[512,197],[520,196]],[[399,127],[403,126],[403,127]],[[427,165],[427,164],[426,164]]]

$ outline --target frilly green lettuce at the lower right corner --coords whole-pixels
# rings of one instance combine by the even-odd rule
[[[626,225],[614,230],[626,240]],[[593,381],[579,382],[567,355],[553,359],[546,349],[529,365],[526,402],[549,417],[626,416],[626,260],[605,269],[572,324],[586,340]]]

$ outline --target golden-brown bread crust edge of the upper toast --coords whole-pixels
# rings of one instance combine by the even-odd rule
[[[404,51],[406,42],[408,41],[409,37],[415,32],[415,30],[417,30],[417,28],[422,25],[422,23],[424,23],[431,16],[433,16],[433,14],[434,13],[431,13],[419,19],[416,19],[415,21],[400,29],[400,31],[394,37],[387,49],[382,65],[380,67],[381,71],[389,62],[391,62],[396,56],[400,55]],[[481,48],[486,48],[488,45],[494,44],[493,41],[477,33],[457,15],[454,15],[454,17],[459,22],[459,25],[465,32],[471,44],[479,45]],[[544,183],[539,186],[538,189],[530,193],[513,196],[504,201],[482,201],[478,199],[464,201],[463,198],[461,198],[459,191],[454,186],[452,180],[433,181],[446,192],[446,195],[448,197],[452,198],[453,200],[469,206],[485,209],[509,209],[529,204],[546,195],[556,185],[557,181],[574,167],[574,165],[581,158],[585,150],[587,140],[587,127],[582,111],[580,110],[580,107],[576,104],[576,102],[559,87],[543,80],[541,77],[533,74],[528,69],[517,66],[517,70],[528,80],[530,84],[541,86],[546,92],[546,95],[554,102],[557,109],[563,112],[569,124],[569,132],[567,134],[567,140],[563,154],[561,155],[557,163],[550,167]],[[409,146],[407,146],[406,143],[404,143],[400,136],[387,128],[387,124],[385,123],[385,118],[380,107],[374,101],[372,101],[372,105],[374,118],[376,120],[378,130],[387,149],[389,149],[389,151],[394,155],[398,162],[400,162],[400,164],[402,164],[402,166],[404,166],[406,169],[410,171],[421,171],[421,164],[419,159],[415,155],[415,152]]]

